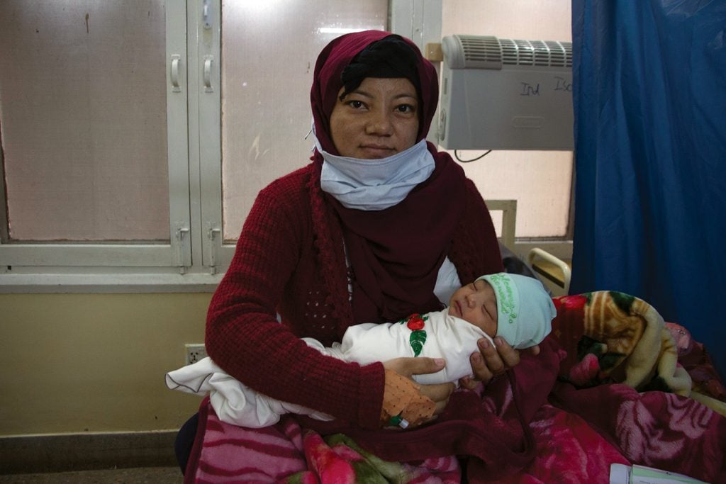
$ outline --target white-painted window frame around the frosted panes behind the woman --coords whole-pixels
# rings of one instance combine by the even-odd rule
[[[424,52],[441,41],[442,1],[390,0],[389,30]],[[212,292],[219,284],[235,247],[221,237],[221,0],[167,0],[165,7],[169,242],[7,242],[0,177],[0,293]],[[178,89],[171,87],[174,60]],[[428,138],[438,141],[438,123]],[[518,239],[514,250],[523,256],[531,247],[571,255],[571,240]]]

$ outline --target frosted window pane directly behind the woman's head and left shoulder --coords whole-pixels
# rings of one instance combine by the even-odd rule
[[[309,163],[310,86],[341,29],[386,28],[386,0],[224,1],[224,239],[236,239],[257,192]]]

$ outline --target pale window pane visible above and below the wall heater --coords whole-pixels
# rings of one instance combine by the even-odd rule
[[[571,0],[444,1],[441,36],[571,41],[570,4]],[[469,160],[482,152],[458,154]],[[494,151],[462,166],[485,198],[518,200],[517,237],[566,236],[572,152]]]

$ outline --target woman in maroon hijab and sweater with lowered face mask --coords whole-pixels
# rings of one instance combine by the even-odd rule
[[[330,345],[354,324],[439,310],[461,284],[502,271],[484,200],[425,141],[438,94],[433,65],[404,38],[369,30],[325,47],[311,89],[312,163],[258,194],[211,300],[205,344],[227,373],[360,429],[396,417],[396,386],[404,401],[427,408],[421,422],[444,411],[452,384],[407,378],[443,361],[359,366],[300,340]],[[475,378],[462,385],[518,364],[510,345],[496,345],[479,341]]]

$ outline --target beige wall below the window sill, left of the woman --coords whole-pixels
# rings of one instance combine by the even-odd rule
[[[0,436],[178,428],[201,399],[164,374],[203,343],[210,298],[0,295]]]

